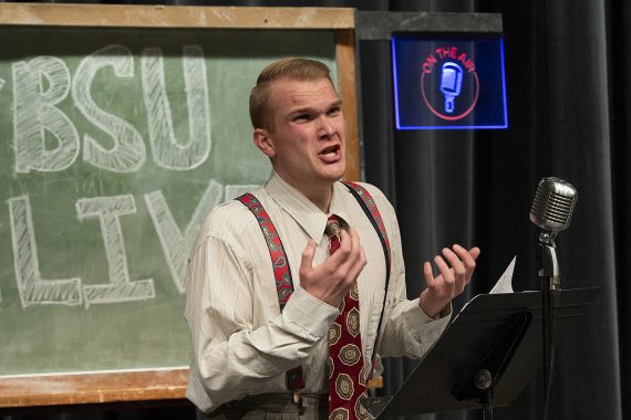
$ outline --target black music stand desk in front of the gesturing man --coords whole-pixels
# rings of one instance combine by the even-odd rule
[[[598,290],[551,292],[559,333],[577,327]],[[509,406],[541,367],[541,292],[475,296],[394,396],[362,405],[375,419],[476,408],[492,418],[493,406]]]

